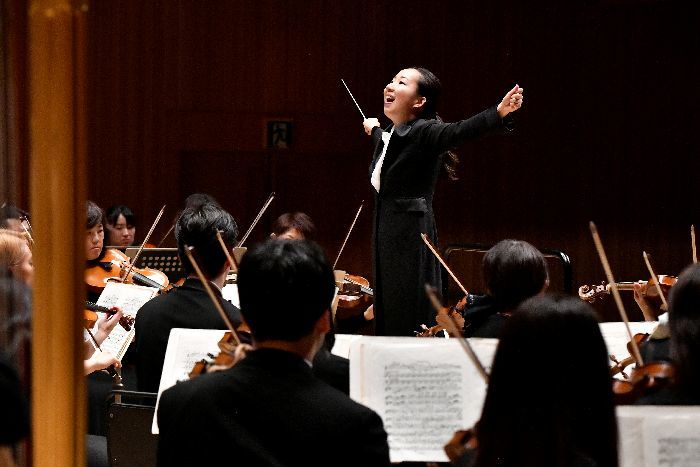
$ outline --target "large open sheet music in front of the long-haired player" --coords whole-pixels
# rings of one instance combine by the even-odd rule
[[[490,370],[497,339],[470,339]],[[444,445],[481,415],[486,383],[456,339],[368,337],[350,345],[350,397],[376,411],[391,462],[447,462]]]

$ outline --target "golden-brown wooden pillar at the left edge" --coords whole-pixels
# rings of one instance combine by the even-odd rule
[[[30,204],[34,250],[34,465],[85,465],[79,303],[85,243],[87,4],[29,0]]]

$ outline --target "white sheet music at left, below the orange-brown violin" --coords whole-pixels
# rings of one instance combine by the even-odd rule
[[[100,294],[100,298],[97,300],[97,304],[107,308],[118,306],[124,311],[125,316],[136,317],[136,313],[141,306],[155,297],[156,293],[158,293],[158,289],[154,287],[107,282]],[[112,329],[112,332],[109,333],[109,336],[100,344],[100,347],[103,351],[110,352],[117,360],[121,361],[129,345],[134,340],[134,336],[135,329],[133,326],[130,331],[127,331],[121,324],[117,324]]]

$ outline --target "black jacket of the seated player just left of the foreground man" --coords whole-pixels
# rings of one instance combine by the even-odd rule
[[[212,286],[234,326],[241,313]],[[226,329],[199,279],[146,302],[136,314],[136,379],[139,391],[158,392],[165,350],[173,328]]]

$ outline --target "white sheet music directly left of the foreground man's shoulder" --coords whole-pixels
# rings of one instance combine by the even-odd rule
[[[158,434],[158,405],[160,395],[163,391],[172,387],[178,381],[189,379],[189,373],[194,364],[208,353],[216,355],[219,353],[219,341],[224,336],[226,330],[218,329],[182,329],[174,328],[170,331],[168,347],[163,360],[163,373],[160,376],[158,386],[158,399],[156,400],[156,411],[153,416],[151,432]]]

